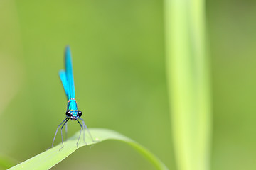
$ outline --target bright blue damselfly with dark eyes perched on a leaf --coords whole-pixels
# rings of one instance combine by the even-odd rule
[[[65,48],[65,70],[60,70],[59,76],[60,76],[60,80],[63,84],[65,94],[67,95],[67,98],[68,98],[68,106],[67,106],[67,111],[65,112],[66,118],[65,118],[65,120],[63,120],[62,123],[60,123],[60,125],[58,125],[58,128],[57,128],[54,138],[53,138],[53,142],[57,135],[58,129],[61,127],[60,128],[61,142],[62,142],[63,146],[60,149],[62,149],[64,147],[62,129],[63,129],[64,125],[66,125],[65,130],[66,130],[66,135],[67,135],[68,120],[76,120],[81,127],[80,134],[78,137],[78,142],[79,142],[82,130],[83,130],[83,139],[85,142],[85,128],[86,128],[88,134],[90,135],[90,137],[92,138],[90,131],[88,130],[87,126],[85,125],[85,121],[82,120],[82,118],[81,118],[82,112],[78,110],[78,105],[75,101],[75,84],[74,84],[74,77],[73,77],[71,52],[70,52],[69,46],[67,46]],[[80,123],[79,120],[82,121],[82,124]],[[92,138],[92,141],[94,141],[93,138]],[[78,147],[78,142],[77,142],[77,147]],[[85,144],[87,145],[86,142],[85,142]],[[53,144],[52,144],[52,147],[53,147]]]

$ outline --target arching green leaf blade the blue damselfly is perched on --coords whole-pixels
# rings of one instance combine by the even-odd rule
[[[98,140],[99,142],[103,142],[105,140],[119,140],[125,142],[134,147],[134,149],[137,149],[137,151],[140,154],[144,155],[146,159],[149,159],[149,161],[154,164],[154,166],[156,166],[156,169],[168,169],[157,157],[154,156],[154,154],[151,154],[148,149],[142,147],[134,140],[131,140],[128,137],[119,134],[118,132],[100,128],[92,128],[90,129],[90,132],[92,133],[92,136],[95,137],[95,140]],[[21,164],[12,167],[11,169],[50,169],[51,167],[55,166],[55,164],[58,164],[63,159],[68,157],[68,155],[72,154],[73,152],[75,152],[76,149],[78,149],[76,142],[78,140],[79,133],[80,132],[77,132],[73,137],[70,137],[69,140],[64,142],[63,149],[60,150],[60,143],[59,145],[48,149],[47,151],[42,152],[41,154],[38,154],[35,157],[32,157],[31,159],[28,159],[25,162],[22,162]],[[92,142],[90,137],[88,137],[87,135],[85,135],[85,141],[87,141],[87,145],[95,145],[95,143],[97,143]],[[79,143],[78,147],[83,147],[87,145],[85,145],[85,143],[82,141]]]

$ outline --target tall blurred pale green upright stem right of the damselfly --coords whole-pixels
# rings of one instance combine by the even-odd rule
[[[210,79],[203,0],[165,0],[166,71],[176,164],[207,170]]]

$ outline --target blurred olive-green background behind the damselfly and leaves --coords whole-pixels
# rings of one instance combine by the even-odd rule
[[[256,168],[256,1],[206,1],[212,66],[211,168]],[[0,1],[0,154],[48,149],[65,118],[58,78],[73,54],[78,107],[90,128],[136,140],[176,169],[164,54],[163,1]],[[80,130],[69,123],[68,135]],[[58,135],[56,143],[60,142]],[[154,169],[131,147],[82,147],[53,169]]]

